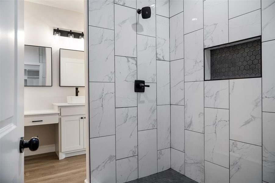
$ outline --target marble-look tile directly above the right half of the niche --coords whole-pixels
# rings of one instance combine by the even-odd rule
[[[229,20],[229,42],[261,35],[261,10]]]

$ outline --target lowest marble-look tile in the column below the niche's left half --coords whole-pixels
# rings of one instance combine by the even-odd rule
[[[205,161],[205,183],[229,183],[229,169]]]

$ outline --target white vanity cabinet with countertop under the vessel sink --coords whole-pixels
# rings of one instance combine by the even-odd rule
[[[59,111],[59,123],[55,124],[55,152],[59,160],[86,153],[85,105],[53,103]]]

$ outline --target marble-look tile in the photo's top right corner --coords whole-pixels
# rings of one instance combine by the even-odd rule
[[[262,41],[275,39],[275,0],[262,1]]]

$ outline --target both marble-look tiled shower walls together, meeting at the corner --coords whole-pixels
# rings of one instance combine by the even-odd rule
[[[197,182],[275,182],[274,0],[88,6],[91,182],[170,167]],[[203,48],[259,35],[262,78],[204,81]],[[150,88],[135,93],[135,79]]]

